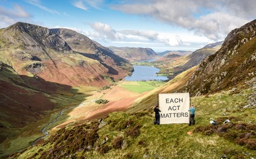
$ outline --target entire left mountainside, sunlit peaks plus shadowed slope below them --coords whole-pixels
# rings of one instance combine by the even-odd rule
[[[131,70],[127,60],[68,29],[24,22],[0,29],[0,141],[15,137],[18,128],[43,119],[49,110],[81,102],[75,88],[108,86]]]

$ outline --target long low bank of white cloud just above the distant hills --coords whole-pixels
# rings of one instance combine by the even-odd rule
[[[191,46],[193,44],[207,44],[210,40],[206,37],[193,35],[193,33],[185,32],[179,35],[168,32],[154,32],[154,31],[138,31],[138,30],[122,30],[116,31],[108,24],[101,22],[94,22],[89,24],[93,31],[87,32],[90,38],[100,41],[104,40],[107,43],[116,44],[142,44],[152,45],[153,43],[161,46]]]

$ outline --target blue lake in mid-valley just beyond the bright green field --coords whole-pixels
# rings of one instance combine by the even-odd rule
[[[126,81],[149,81],[149,80],[168,80],[166,76],[156,75],[160,69],[150,66],[137,66],[134,65],[134,71],[131,76],[125,77]]]

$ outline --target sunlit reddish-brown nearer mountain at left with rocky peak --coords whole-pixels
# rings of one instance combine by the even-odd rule
[[[0,41],[0,60],[21,75],[71,86],[107,85],[103,75],[112,75],[98,60],[74,52],[61,37],[41,26],[17,22],[0,30]]]

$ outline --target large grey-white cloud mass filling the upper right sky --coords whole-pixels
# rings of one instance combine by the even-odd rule
[[[141,0],[115,5],[112,9],[152,17],[218,41],[223,40],[232,29],[239,28],[254,18],[256,14],[254,7],[253,0]],[[172,42],[167,40],[167,43]]]

